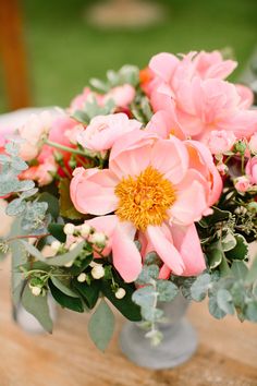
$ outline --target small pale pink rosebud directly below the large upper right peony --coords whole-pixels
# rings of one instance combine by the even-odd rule
[[[225,130],[212,130],[206,145],[212,154],[224,154],[231,150],[236,137],[233,132]]]

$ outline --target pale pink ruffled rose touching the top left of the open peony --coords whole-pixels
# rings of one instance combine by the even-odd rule
[[[112,147],[113,143],[124,133],[139,130],[142,123],[128,119],[125,113],[98,116],[93,118],[89,125],[77,136],[77,142],[94,152],[103,152]]]

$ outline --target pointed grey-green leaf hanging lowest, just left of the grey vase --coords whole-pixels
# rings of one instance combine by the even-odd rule
[[[114,316],[102,299],[90,317],[88,333],[96,347],[105,351],[114,331]]]

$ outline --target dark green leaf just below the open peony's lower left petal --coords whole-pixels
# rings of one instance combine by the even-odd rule
[[[135,291],[134,286],[123,282],[114,276],[115,282],[124,288],[126,294],[123,299],[117,299],[112,290],[110,280],[101,280],[101,291],[105,297],[125,316],[128,321],[139,322],[142,319],[140,307],[133,302],[132,295]]]

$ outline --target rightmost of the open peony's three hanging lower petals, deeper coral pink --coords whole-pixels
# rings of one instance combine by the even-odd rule
[[[183,276],[197,276],[206,269],[206,262],[195,225],[171,227],[174,245],[180,251],[185,270]]]

